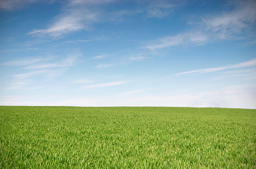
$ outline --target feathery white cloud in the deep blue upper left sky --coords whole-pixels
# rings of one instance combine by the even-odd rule
[[[50,35],[59,38],[64,34],[79,30],[93,30],[94,23],[122,21],[124,20],[123,16],[135,15],[140,12],[136,10],[105,11],[104,9],[92,8],[88,5],[72,6],[65,13],[56,16],[48,28],[33,30],[28,34]]]

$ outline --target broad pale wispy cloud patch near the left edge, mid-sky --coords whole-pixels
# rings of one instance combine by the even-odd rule
[[[36,57],[7,61],[3,65],[19,66],[21,71],[21,73],[13,75],[14,79],[10,82],[8,89],[36,89],[41,87],[33,86],[36,78],[52,79],[63,74],[69,66],[76,63],[79,56],[80,53],[75,53],[59,60],[57,57]]]

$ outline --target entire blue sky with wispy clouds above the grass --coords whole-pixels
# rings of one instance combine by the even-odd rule
[[[256,108],[256,0],[0,0],[0,105]]]

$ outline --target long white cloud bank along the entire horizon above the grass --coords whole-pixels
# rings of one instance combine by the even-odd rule
[[[111,86],[104,83],[95,87]],[[134,92],[133,92],[134,91]],[[130,93],[142,92],[133,90]],[[143,92],[144,93],[144,92]],[[63,99],[54,101],[25,101],[25,97],[2,97],[1,105],[71,105],[71,106],[182,106],[182,107],[227,107],[227,108],[256,108],[255,85],[236,85],[223,87],[219,90],[198,92],[195,94],[176,95],[117,95],[108,98]],[[145,93],[144,93],[145,94]],[[36,100],[36,99],[35,99]]]

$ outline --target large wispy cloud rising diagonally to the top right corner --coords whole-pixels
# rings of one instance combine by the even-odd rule
[[[202,21],[194,30],[191,27],[191,30],[184,33],[154,40],[145,48],[155,50],[178,45],[197,46],[207,43],[209,40],[230,37],[233,33],[239,34],[244,28],[249,30],[256,20],[256,1],[234,1],[232,6],[233,10],[229,12],[200,16]]]

